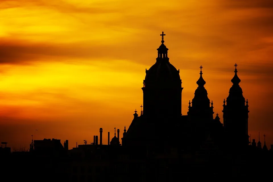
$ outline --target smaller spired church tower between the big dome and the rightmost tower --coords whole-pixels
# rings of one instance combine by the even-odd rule
[[[190,120],[200,121],[202,124],[207,124],[204,121],[213,120],[213,102],[210,103],[208,92],[204,87],[206,81],[202,77],[202,65],[199,68],[200,78],[196,82],[198,87],[195,90],[192,102],[189,102],[188,116],[190,117]]]

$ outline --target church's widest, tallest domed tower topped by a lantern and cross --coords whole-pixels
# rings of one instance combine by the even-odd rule
[[[146,69],[143,80],[143,116],[146,118],[177,118],[181,116],[181,79],[179,70],[170,62],[168,48],[164,44],[157,49],[156,63]]]

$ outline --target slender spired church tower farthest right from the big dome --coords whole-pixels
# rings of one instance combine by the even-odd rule
[[[248,100],[243,97],[243,90],[239,86],[241,82],[237,75],[237,64],[235,63],[235,75],[231,79],[233,85],[229,89],[227,99],[224,99],[223,122],[224,130],[228,140],[235,145],[246,146],[249,144],[248,135]]]

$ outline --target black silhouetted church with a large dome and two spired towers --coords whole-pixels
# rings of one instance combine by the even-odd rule
[[[181,145],[188,150],[198,150],[211,137],[218,147],[234,142],[235,147],[249,145],[248,136],[248,101],[245,101],[239,86],[237,75],[231,79],[233,85],[227,99],[224,99],[223,122],[218,113],[213,117],[213,102],[208,98],[200,66],[200,78],[192,102],[189,101],[187,115],[181,114],[181,96],[183,87],[177,70],[170,62],[168,48],[164,45],[164,32],[159,46],[156,63],[146,69],[143,80],[143,111],[140,116],[135,111],[134,119],[127,132],[123,134],[124,146]]]

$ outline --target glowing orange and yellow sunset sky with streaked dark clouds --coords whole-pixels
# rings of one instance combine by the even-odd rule
[[[103,143],[140,111],[145,69],[162,32],[180,69],[182,114],[199,66],[222,121],[234,64],[249,100],[249,133],[273,144],[271,0],[0,0],[0,140]],[[164,109],[164,108],[162,108]],[[38,131],[35,131],[38,129]]]

